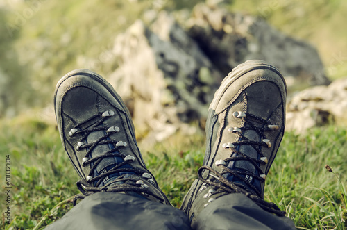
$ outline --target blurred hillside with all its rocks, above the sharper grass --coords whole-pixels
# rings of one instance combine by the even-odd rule
[[[177,131],[193,134],[204,129],[223,76],[245,60],[279,67],[289,99],[344,79],[346,15],[343,0],[1,1],[0,118],[55,124],[56,83],[85,68],[124,98],[137,138],[157,142]],[[321,98],[328,88],[289,101],[288,129],[346,123],[347,83],[335,85],[328,107]],[[336,103],[344,106],[336,111]]]

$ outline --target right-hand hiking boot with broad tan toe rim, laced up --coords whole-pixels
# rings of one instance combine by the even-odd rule
[[[276,67],[250,60],[235,67],[214,95],[206,122],[203,166],[181,209],[194,222],[214,199],[243,193],[266,211],[264,182],[285,131],[285,79]]]

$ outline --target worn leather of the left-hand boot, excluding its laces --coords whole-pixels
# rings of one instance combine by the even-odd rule
[[[151,172],[146,169],[142,155],[137,147],[135,129],[128,108],[126,108],[121,97],[115,92],[112,86],[100,75],[87,69],[76,69],[69,72],[69,74],[63,76],[57,84],[54,103],[62,145],[65,147],[74,169],[83,181],[87,181],[87,176],[92,169],[92,164],[83,166],[83,157],[87,154],[87,148],[78,151],[76,148],[77,143],[81,141],[85,143],[95,142],[103,137],[103,135],[105,135],[105,130],[111,126],[119,127],[119,132],[112,133],[109,139],[113,140],[115,143],[119,141],[126,142],[126,147],[117,149],[117,153],[121,154],[121,157],[110,156],[103,158],[96,165],[96,170],[93,172],[92,176],[94,177],[103,174],[103,172],[107,172],[113,165],[117,165],[119,162],[124,161],[125,156],[133,156],[135,158],[134,161],[129,161],[126,167],[133,167],[142,170],[142,172],[151,174]],[[84,122],[90,117],[108,110],[115,112],[115,115],[107,117],[107,119],[103,120],[102,124],[99,125],[101,128],[105,128],[104,130],[92,131],[87,135],[85,140],[81,140],[82,134],[68,135],[69,131],[71,131],[76,124],[82,123],[81,126],[78,126],[79,130],[93,126],[98,122],[98,117],[90,122]],[[92,150],[89,154],[90,156],[87,157],[95,158],[101,156],[106,151],[113,148],[115,148],[114,144],[99,144]],[[123,172],[120,172],[120,174],[122,173]],[[124,172],[124,174],[126,173],[127,172]],[[108,188],[119,186],[119,183],[112,184],[112,177],[111,179],[109,179],[109,177],[111,176],[107,176],[103,179],[101,186],[107,186]],[[113,179],[115,179],[115,177],[113,177]],[[158,183],[155,181],[152,174],[151,179],[143,178],[142,174],[129,174],[129,183],[130,181],[143,181],[155,196],[160,197],[158,200],[159,202],[170,205],[169,200],[158,187]],[[135,184],[135,182],[132,184]],[[94,184],[90,183],[89,186],[92,187]],[[122,183],[122,186],[123,188],[128,186],[127,182]],[[129,184],[128,188],[133,188],[133,185]],[[147,198],[156,200],[153,196],[147,196]]]

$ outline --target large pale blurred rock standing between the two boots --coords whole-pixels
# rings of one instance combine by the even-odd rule
[[[160,141],[206,119],[222,76],[167,13],[151,29],[137,21],[118,35],[113,54],[119,68],[108,81],[130,108],[139,136]]]

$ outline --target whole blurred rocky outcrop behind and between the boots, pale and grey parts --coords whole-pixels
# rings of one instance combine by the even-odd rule
[[[192,123],[203,128],[221,80],[248,59],[268,60],[285,76],[328,83],[313,47],[255,17],[198,5],[186,23],[189,29],[166,12],[155,18],[151,26],[137,21],[117,36],[111,56],[119,67],[107,77],[146,141],[192,132]]]

